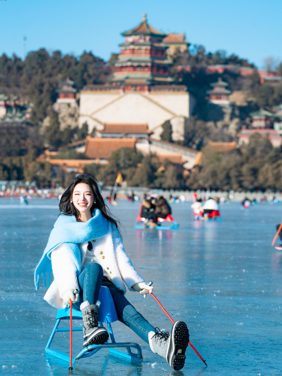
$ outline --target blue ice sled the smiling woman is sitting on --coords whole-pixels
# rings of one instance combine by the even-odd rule
[[[109,288],[105,286],[101,286],[100,294],[99,294],[99,300],[101,302],[100,308],[99,308],[99,321],[101,323],[106,323],[108,326],[108,331],[110,334],[111,342],[107,342],[104,344],[99,345],[90,345],[87,347],[84,347],[76,356],[75,358],[72,358],[72,364],[77,359],[80,358],[86,358],[88,356],[91,356],[95,354],[97,351],[108,348],[110,353],[113,353],[115,355],[121,356],[125,359],[130,359],[136,362],[142,362],[142,351],[141,347],[137,343],[132,342],[116,342],[115,337],[113,335],[113,330],[111,323],[118,320],[118,316],[116,314],[115,304],[113,302],[112,295],[110,293]],[[57,315],[56,315],[56,324],[54,326],[54,329],[50,335],[50,338],[47,342],[47,345],[45,347],[45,352],[47,354],[53,355],[56,358],[62,359],[66,362],[69,362],[69,354],[63,353],[59,350],[55,350],[52,347],[50,347],[51,342],[53,340],[53,337],[56,332],[69,332],[70,328],[68,327],[58,327],[61,320],[69,320],[70,316],[70,308],[67,307],[65,309],[58,309]],[[82,320],[82,314],[81,311],[78,311],[77,309],[72,308],[72,319],[73,320]],[[72,327],[72,332],[76,331],[82,331],[82,326],[80,327]],[[82,343],[82,338],[81,338]],[[127,353],[121,352],[119,350],[116,350],[116,348],[123,347],[127,349]],[[131,349],[136,349],[137,353],[133,353]]]

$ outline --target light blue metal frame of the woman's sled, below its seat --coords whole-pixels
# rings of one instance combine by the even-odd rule
[[[112,312],[112,314],[113,314],[113,312]],[[115,312],[115,314],[116,314],[116,312]],[[104,349],[104,348],[108,348],[110,353],[113,353],[114,355],[120,356],[120,357],[125,358],[125,359],[129,359],[130,361],[133,360],[133,361],[136,361],[136,362],[139,362],[139,363],[142,362],[142,360],[143,360],[142,350],[141,350],[141,347],[140,347],[139,344],[133,343],[133,342],[116,342],[115,341],[111,322],[116,321],[117,317],[113,318],[111,322],[108,321],[109,317],[111,317],[111,316],[110,315],[105,316],[104,318],[105,318],[105,321],[106,321],[106,324],[107,324],[107,327],[108,327],[111,342],[108,341],[107,343],[104,343],[104,344],[89,345],[87,347],[84,347],[84,349],[82,349],[74,358],[72,358],[72,364],[74,364],[76,360],[78,360],[80,358],[87,358],[89,356],[92,356],[93,354],[97,353],[99,350]],[[115,316],[112,315],[112,317],[115,317]],[[55,323],[53,331],[50,335],[50,338],[47,342],[47,345],[45,347],[45,352],[47,354],[55,356],[56,358],[59,358],[59,359],[66,361],[66,362],[69,362],[69,360],[70,360],[69,354],[63,353],[63,352],[56,350],[56,349],[53,349],[52,347],[50,347],[50,345],[51,345],[51,342],[54,338],[55,333],[57,333],[57,332],[70,332],[69,327],[59,327],[59,323],[60,323],[61,320],[69,320],[69,318],[70,318],[69,317],[69,309],[66,309],[66,310],[60,309],[60,310],[57,311],[56,323]],[[72,319],[73,320],[82,320],[81,311],[78,311],[77,309],[72,308]],[[99,323],[100,323],[100,326],[101,326],[101,321],[99,321]],[[82,331],[82,327],[81,326],[72,327],[72,332],[77,332],[77,331]],[[127,353],[119,351],[116,348],[125,348],[125,349],[127,349]],[[137,353],[132,352],[131,349],[136,349]]]

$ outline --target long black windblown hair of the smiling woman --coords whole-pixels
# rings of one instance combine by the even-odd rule
[[[79,211],[77,210],[77,208],[75,208],[73,203],[71,203],[74,187],[78,183],[88,184],[93,191],[94,201],[96,202],[93,202],[93,205],[90,208],[91,212],[95,208],[99,209],[100,212],[104,215],[104,217],[108,221],[111,221],[113,224],[115,224],[116,228],[119,230],[119,226],[118,226],[120,224],[119,220],[115,220],[113,217],[111,217],[110,209],[105,204],[104,199],[99,191],[97,179],[91,174],[80,174],[74,178],[73,182],[65,190],[65,192],[62,194],[62,197],[60,199],[60,203],[59,203],[60,214],[74,215],[75,218],[79,218],[79,215],[80,215]]]

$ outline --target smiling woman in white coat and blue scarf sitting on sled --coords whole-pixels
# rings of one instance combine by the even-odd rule
[[[41,273],[53,272],[54,280],[44,299],[56,308],[74,303],[83,318],[83,347],[105,343],[109,334],[99,327],[98,300],[101,286],[109,288],[118,319],[129,326],[151,350],[163,356],[174,370],[185,362],[189,332],[183,321],[173,324],[171,334],[154,328],[128,302],[125,285],[131,291],[146,296],[153,287],[134,269],[124,251],[118,224],[110,215],[90,174],[75,177],[63,193],[59,204],[60,215],[51,231],[47,246],[35,269],[36,290]]]

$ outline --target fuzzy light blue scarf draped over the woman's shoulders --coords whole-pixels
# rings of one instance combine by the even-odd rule
[[[108,221],[101,214],[99,209],[94,209],[93,217],[87,222],[77,222],[74,215],[61,214],[54,223],[54,228],[50,233],[47,246],[34,271],[34,283],[36,290],[39,289],[40,276],[42,274],[43,285],[50,286],[50,274],[52,272],[51,252],[62,243],[66,243],[73,259],[77,272],[81,269],[80,249],[77,243],[84,243],[93,239],[100,238],[107,233]]]

